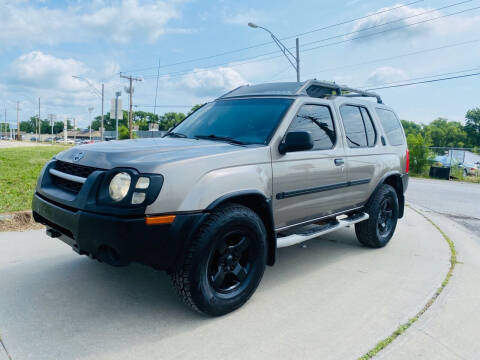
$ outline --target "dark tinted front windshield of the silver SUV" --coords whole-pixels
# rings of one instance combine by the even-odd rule
[[[198,109],[173,133],[177,136],[267,144],[293,99],[218,100]]]

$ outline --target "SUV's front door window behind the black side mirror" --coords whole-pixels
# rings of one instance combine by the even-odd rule
[[[292,131],[310,132],[312,150],[332,149],[337,139],[330,109],[323,105],[303,105],[288,128]]]

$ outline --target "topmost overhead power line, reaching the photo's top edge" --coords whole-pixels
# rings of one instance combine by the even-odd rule
[[[353,18],[353,19],[349,19],[349,20],[344,20],[344,21],[341,21],[341,22],[338,22],[338,23],[335,23],[335,24],[331,24],[331,25],[327,25],[327,26],[324,26],[324,27],[321,27],[321,28],[309,30],[309,31],[299,33],[299,34],[296,34],[296,35],[289,35],[287,37],[280,38],[280,40],[289,40],[289,39],[292,39],[292,38],[295,38],[295,37],[301,37],[301,36],[308,35],[308,34],[311,34],[311,33],[314,33],[314,32],[331,29],[331,28],[341,26],[341,25],[346,25],[346,24],[349,24],[349,23],[352,23],[352,22],[355,22],[355,21],[358,21],[358,20],[367,19],[367,18],[372,17],[372,16],[376,16],[376,15],[379,15],[379,14],[383,14],[383,13],[386,13],[386,12],[397,10],[399,8],[407,7],[409,5],[417,4],[417,3],[423,2],[423,1],[424,0],[416,0],[416,1],[406,3],[406,4],[400,4],[400,5],[391,7],[389,9],[380,10],[380,11],[377,11],[377,12],[374,12],[374,13],[371,13],[371,14],[368,14],[368,15],[365,15],[365,16],[361,16],[361,17],[357,17],[357,18]],[[212,58],[225,56],[225,55],[230,55],[230,54],[234,54],[234,53],[237,53],[237,52],[250,50],[250,49],[254,49],[254,48],[258,48],[258,47],[263,47],[265,45],[271,45],[271,44],[272,44],[272,42],[270,42],[270,41],[269,42],[263,42],[263,43],[259,43],[259,44],[255,44],[255,45],[251,45],[251,46],[246,46],[246,47],[239,48],[239,49],[224,51],[224,52],[213,54],[213,55],[207,55],[207,56],[198,57],[198,58],[194,58],[194,59],[183,60],[183,61],[178,61],[178,62],[175,62],[175,63],[165,64],[162,67],[164,67],[164,68],[165,67],[172,67],[172,66],[176,66],[176,65],[188,64],[188,63],[201,61],[201,60],[209,60],[209,59],[212,59]],[[150,67],[145,67],[145,68],[140,68],[140,69],[129,70],[128,72],[139,72],[139,71],[145,71],[145,70],[152,70],[152,69],[156,69],[156,68],[157,68],[156,66],[150,66]]]

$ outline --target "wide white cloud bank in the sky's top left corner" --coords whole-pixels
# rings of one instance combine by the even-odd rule
[[[178,1],[120,0],[111,6],[98,1],[77,4],[54,9],[0,0],[0,49],[92,39],[125,43],[136,38],[153,42],[166,32],[187,31],[169,27],[171,20],[181,17]]]

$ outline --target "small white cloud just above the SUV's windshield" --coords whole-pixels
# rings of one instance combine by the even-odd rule
[[[179,88],[190,90],[197,96],[218,96],[240,85],[247,84],[236,70],[219,67],[212,70],[194,69],[178,83]]]

